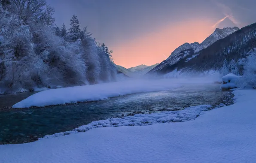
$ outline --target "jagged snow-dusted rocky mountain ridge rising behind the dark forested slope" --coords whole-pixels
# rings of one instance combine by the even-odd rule
[[[176,48],[171,55],[164,61],[162,61],[158,66],[156,66],[154,69],[150,71],[152,72],[163,72],[162,69],[167,69],[168,67],[176,64],[180,60],[186,58],[189,55],[192,55],[191,58],[196,57],[196,53],[198,51],[203,50],[204,48],[207,48],[208,46],[212,45],[214,42],[216,42],[219,39],[223,39],[226,36],[229,36],[231,33],[234,33],[235,31],[239,30],[238,27],[227,27],[223,29],[216,28],[216,30],[207,37],[201,44],[198,42],[194,43],[185,43],[178,48]],[[189,58],[188,58],[189,59]]]

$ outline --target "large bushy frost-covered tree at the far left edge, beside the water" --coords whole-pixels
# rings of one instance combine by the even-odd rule
[[[3,13],[3,12],[2,12]],[[1,14],[1,80],[0,86],[8,91],[21,87],[33,87],[32,75],[37,69],[37,56],[31,43],[32,34],[28,25],[20,25],[15,16]],[[33,69],[31,69],[33,67]]]

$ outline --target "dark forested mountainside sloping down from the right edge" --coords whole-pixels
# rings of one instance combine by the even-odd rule
[[[256,24],[243,27],[207,48],[195,52],[188,49],[180,52],[180,59],[174,64],[162,66],[155,71],[166,74],[174,70],[180,72],[204,72],[209,70],[243,73],[246,57],[256,51]],[[165,61],[166,62],[166,61]]]

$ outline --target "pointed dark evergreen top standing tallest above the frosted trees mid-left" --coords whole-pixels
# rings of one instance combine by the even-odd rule
[[[81,36],[81,30],[79,26],[79,21],[76,15],[73,15],[70,19],[70,29],[69,29],[69,36],[71,41],[76,41]]]

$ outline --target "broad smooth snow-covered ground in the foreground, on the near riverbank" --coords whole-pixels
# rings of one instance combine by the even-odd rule
[[[19,145],[0,145],[3,163],[254,163],[256,90],[194,121],[103,127]]]

